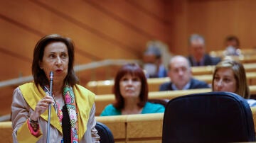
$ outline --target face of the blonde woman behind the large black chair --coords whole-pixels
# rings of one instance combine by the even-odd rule
[[[230,68],[220,68],[213,78],[213,91],[229,91],[235,93],[236,81],[234,72]]]

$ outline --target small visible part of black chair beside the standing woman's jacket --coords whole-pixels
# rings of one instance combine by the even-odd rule
[[[100,142],[104,143],[113,143],[114,137],[110,129],[102,124],[101,122],[96,122],[95,125],[96,130],[98,131],[98,135],[100,135]]]

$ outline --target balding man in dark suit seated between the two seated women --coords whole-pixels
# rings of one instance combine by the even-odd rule
[[[191,66],[188,59],[183,56],[172,57],[169,62],[169,73],[171,82],[161,84],[160,91],[186,90],[193,88],[209,88],[204,81],[193,79]]]

